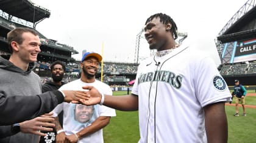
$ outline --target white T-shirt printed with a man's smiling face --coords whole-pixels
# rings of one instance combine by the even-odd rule
[[[83,90],[85,85],[91,85],[97,88],[101,93],[105,95],[112,95],[112,89],[103,82],[95,81],[93,83],[85,83],[80,79],[69,82],[62,85],[59,90]],[[63,130],[66,135],[72,135],[80,130],[91,125],[99,116],[116,116],[113,108],[106,107],[104,105],[86,106],[82,104],[71,104],[63,102],[54,108],[54,116],[59,115],[63,110]],[[78,143],[91,142],[91,143],[103,143],[102,129],[94,132],[91,135],[85,136],[79,139]]]

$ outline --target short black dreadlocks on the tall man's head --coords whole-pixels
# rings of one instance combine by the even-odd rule
[[[152,19],[154,18],[160,18],[160,22],[162,22],[163,24],[168,24],[168,23],[171,23],[172,27],[171,27],[171,31],[172,31],[172,34],[174,35],[174,39],[177,39],[178,36],[177,36],[177,25],[176,23],[172,20],[172,18],[166,14],[163,14],[163,13],[157,13],[155,15],[152,15],[150,16],[145,25],[149,22],[149,21],[152,21]]]

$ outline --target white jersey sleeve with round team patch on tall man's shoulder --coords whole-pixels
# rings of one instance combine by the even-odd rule
[[[194,86],[197,100],[202,107],[215,102],[231,101],[227,83],[210,57],[201,59],[195,65]]]

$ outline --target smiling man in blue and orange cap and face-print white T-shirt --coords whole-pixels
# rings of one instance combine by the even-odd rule
[[[112,89],[107,84],[95,79],[101,60],[102,57],[98,53],[85,53],[80,63],[81,78],[63,85],[60,90],[83,90],[83,86],[91,85],[106,95],[112,95]],[[63,128],[57,118],[62,110]],[[116,116],[116,113],[113,108],[104,105],[63,103],[54,108],[54,116],[57,142],[102,143],[102,128],[110,122],[111,116]]]

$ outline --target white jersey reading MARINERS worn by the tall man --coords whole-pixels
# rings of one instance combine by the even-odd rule
[[[140,143],[207,142],[202,107],[231,98],[213,60],[192,47],[141,62],[132,93],[139,99]]]

